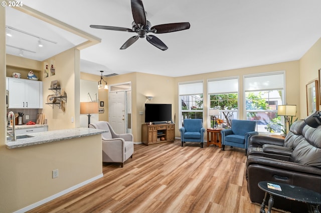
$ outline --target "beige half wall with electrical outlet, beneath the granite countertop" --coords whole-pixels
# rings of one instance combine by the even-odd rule
[[[101,135],[0,147],[0,212],[13,212],[102,174]],[[52,178],[52,170],[59,176]]]

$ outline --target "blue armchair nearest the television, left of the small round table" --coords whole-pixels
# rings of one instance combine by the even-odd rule
[[[203,148],[205,128],[202,119],[184,119],[184,126],[180,131],[182,146],[185,142],[200,142]]]

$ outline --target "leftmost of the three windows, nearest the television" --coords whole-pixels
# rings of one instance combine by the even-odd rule
[[[203,119],[203,81],[179,83],[180,126],[184,119]]]

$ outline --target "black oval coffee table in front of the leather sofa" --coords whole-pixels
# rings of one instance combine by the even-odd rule
[[[267,209],[268,213],[271,212],[274,203],[274,196],[304,202],[308,206],[308,212],[319,212],[318,206],[321,204],[321,194],[318,192],[295,185],[271,181],[261,181],[258,183],[258,186],[265,191],[260,209],[261,213],[265,213],[264,208],[267,194],[270,195]]]

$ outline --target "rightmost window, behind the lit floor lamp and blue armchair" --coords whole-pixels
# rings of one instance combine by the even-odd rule
[[[247,120],[256,120],[260,132],[281,132],[281,117],[277,105],[283,104],[284,73],[244,77]]]

